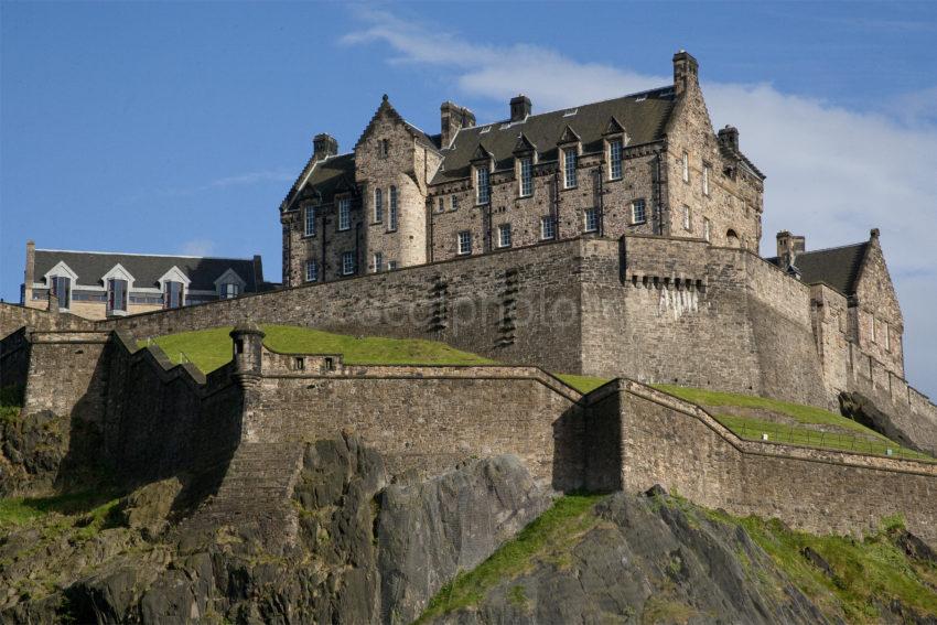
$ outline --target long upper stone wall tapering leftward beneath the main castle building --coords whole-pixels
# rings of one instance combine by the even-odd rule
[[[582,241],[438,262],[101,322],[139,338],[218,325],[295,324],[443,341],[505,363],[580,369]]]

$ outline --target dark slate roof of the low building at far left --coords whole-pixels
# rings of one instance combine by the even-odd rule
[[[134,287],[159,287],[158,280],[173,267],[185,273],[192,283],[190,289],[214,291],[215,280],[228,269],[247,285],[245,292],[258,291],[254,274],[254,259],[245,258],[197,258],[186,256],[144,256],[137,254],[112,254],[100,251],[35,250],[35,280],[44,280],[45,273],[64,261],[78,274],[77,283],[103,287],[101,278],[118,262],[133,276]]]

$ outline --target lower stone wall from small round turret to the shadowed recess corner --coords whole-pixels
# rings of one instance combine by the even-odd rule
[[[443,471],[468,457],[519,456],[539,481],[581,486],[580,396],[542,371],[511,367],[348,367],[265,374],[246,410],[246,443],[362,435],[394,473]]]

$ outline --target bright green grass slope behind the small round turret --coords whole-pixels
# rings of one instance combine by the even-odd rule
[[[309,327],[265,325],[263,344],[283,354],[342,354],[349,365],[488,365],[494,360],[437,341],[355,337]],[[228,327],[212,327],[160,336],[153,341],[173,363],[191,362],[204,373],[231,358]],[[146,346],[141,342],[140,346]]]

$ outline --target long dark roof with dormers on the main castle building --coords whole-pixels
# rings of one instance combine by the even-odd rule
[[[605,129],[613,117],[623,128],[627,128],[629,144],[661,140],[675,100],[674,86],[668,85],[650,91],[582,105],[575,109],[531,115],[523,122],[509,123],[509,120],[503,120],[463,128],[455,136],[452,146],[442,150],[443,164],[433,176],[432,184],[467,177],[472,157],[480,142],[494,155],[496,170],[513,168],[518,131],[523,131],[531,144],[540,147],[537,151],[539,162],[557,160],[557,139],[567,126],[575,127],[584,153],[601,152],[604,148]]]

